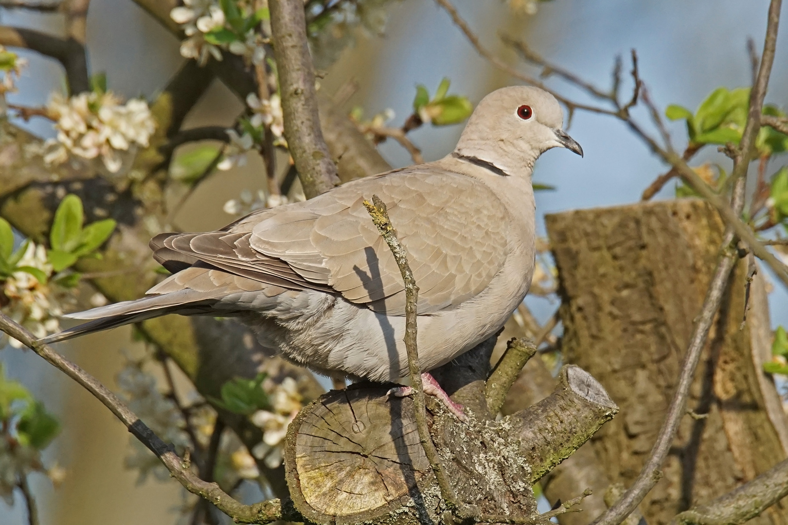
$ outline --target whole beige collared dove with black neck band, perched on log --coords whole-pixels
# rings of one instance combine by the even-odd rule
[[[263,346],[327,375],[407,375],[400,270],[362,205],[377,194],[418,283],[427,372],[485,341],[528,292],[534,267],[531,172],[553,147],[582,155],[563,113],[536,87],[479,102],[439,161],[356,179],[305,202],[255,211],[219,231],[151,240],[173,272],[144,298],[73,313],[56,342],[169,313],[236,316]],[[427,373],[425,390],[457,405]]]

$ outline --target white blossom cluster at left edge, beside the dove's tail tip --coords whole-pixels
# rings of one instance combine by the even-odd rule
[[[19,261],[19,266],[36,268],[43,275],[52,275],[52,265],[47,261],[46,250],[29,242],[27,250]],[[56,284],[40,283],[30,272],[13,272],[2,283],[2,291],[9,299],[6,314],[17,323],[27,327],[38,338],[60,331],[59,317],[63,315],[63,305],[72,301],[72,294]],[[23,345],[17,339],[9,338],[14,348]]]

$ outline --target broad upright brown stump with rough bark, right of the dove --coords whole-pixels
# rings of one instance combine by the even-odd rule
[[[567,362],[600,380],[621,415],[592,440],[611,482],[634,480],[671,401],[700,312],[723,224],[703,201],[679,199],[547,217],[563,295]],[[753,286],[747,322],[746,263],[720,310],[663,479],[641,504],[648,523],[668,523],[786,457],[786,420],[764,375],[768,313]],[[761,288],[759,288],[761,287]],[[741,327],[741,329],[740,329]],[[758,523],[788,523],[783,501]]]

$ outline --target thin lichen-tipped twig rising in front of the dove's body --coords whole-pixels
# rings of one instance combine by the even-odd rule
[[[418,438],[422,442],[424,452],[429,464],[435,473],[440,486],[440,493],[448,505],[458,508],[457,496],[449,483],[443,465],[440,464],[437,449],[429,436],[427,427],[426,404],[424,401],[424,390],[422,386],[422,369],[418,364],[418,348],[416,346],[416,334],[418,331],[416,317],[416,303],[418,302],[418,286],[413,277],[411,267],[407,264],[407,252],[400,244],[400,239],[396,236],[396,230],[388,218],[385,202],[381,201],[377,195],[372,196],[372,202],[364,201],[366,211],[370,213],[372,222],[380,232],[381,237],[392,250],[392,255],[397,266],[400,267],[403,283],[405,284],[405,348],[407,349],[407,368],[411,374],[411,386],[414,389],[414,405],[416,412],[416,427],[418,428]]]

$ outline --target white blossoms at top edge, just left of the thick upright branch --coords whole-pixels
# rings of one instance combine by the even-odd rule
[[[238,7],[243,9],[243,6]],[[263,47],[266,38],[254,27],[242,31],[239,37],[217,0],[184,0],[184,6],[174,8],[169,16],[180,24],[187,36],[180,44],[181,56],[194,58],[199,65],[205,65],[210,57],[221,61],[221,50],[244,57],[253,64],[266,60]]]

